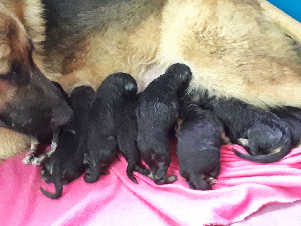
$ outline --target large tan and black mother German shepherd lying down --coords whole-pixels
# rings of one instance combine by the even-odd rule
[[[195,101],[205,88],[259,108],[301,107],[292,43],[256,0],[0,0],[1,124],[36,135],[69,120],[46,77],[70,91],[122,71],[141,91],[173,63],[191,68]],[[0,140],[4,158],[29,142],[7,128]]]

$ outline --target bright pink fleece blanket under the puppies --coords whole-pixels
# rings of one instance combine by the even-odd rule
[[[240,159],[231,146],[222,146],[218,184],[212,191],[196,191],[179,175],[175,141],[171,146],[169,174],[178,175],[174,184],[159,186],[139,174],[139,184],[134,184],[119,155],[109,174],[94,184],[80,177],[64,185],[58,200],[40,192],[40,186],[54,191],[53,184],[41,180],[40,169],[23,165],[22,156],[17,156],[0,165],[0,219],[5,225],[31,226],[230,224],[267,203],[301,199],[301,149],[293,149],[280,162],[260,164]]]

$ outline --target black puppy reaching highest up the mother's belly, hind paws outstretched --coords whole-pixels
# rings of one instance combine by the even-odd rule
[[[171,161],[167,134],[178,118],[178,96],[183,95],[190,80],[188,66],[173,64],[147,86],[138,101],[138,149],[157,184],[176,180],[175,175],[166,178]]]

